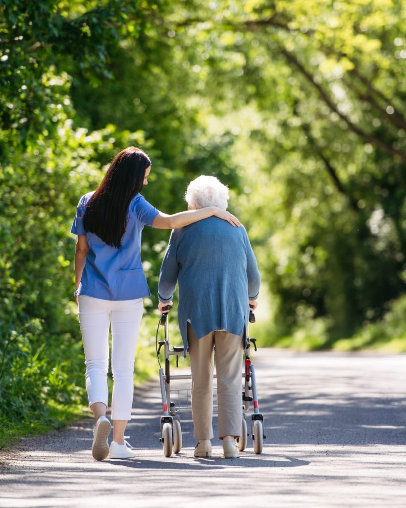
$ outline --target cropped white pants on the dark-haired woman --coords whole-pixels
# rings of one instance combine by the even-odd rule
[[[108,406],[108,331],[112,325],[113,420],[131,420],[135,348],[142,311],[142,298],[110,301],[79,297],[89,406],[95,402]]]

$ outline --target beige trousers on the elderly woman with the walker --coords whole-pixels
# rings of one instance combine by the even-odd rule
[[[215,331],[197,339],[188,323],[192,373],[192,418],[196,439],[212,439],[214,345],[216,354],[218,437],[241,436],[243,337]]]

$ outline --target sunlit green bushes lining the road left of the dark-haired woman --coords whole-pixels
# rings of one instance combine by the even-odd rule
[[[72,302],[75,239],[68,232],[79,197],[102,178],[98,160],[110,160],[118,151],[116,142],[143,142],[142,132],[116,132],[112,125],[89,135],[72,130],[63,110],[57,132],[16,154],[0,174],[0,420],[5,431],[17,422],[23,428],[49,426],[55,408],[64,415],[64,406],[85,402],[83,347]]]

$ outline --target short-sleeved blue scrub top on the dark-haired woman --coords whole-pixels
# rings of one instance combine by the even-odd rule
[[[96,234],[87,233],[83,227],[85,210],[93,194],[90,192],[80,199],[70,230],[75,235],[86,236],[90,247],[75,294],[103,300],[150,296],[141,263],[141,232],[144,226],[152,226],[159,211],[137,194],[130,203],[127,228],[118,249],[104,243]]]

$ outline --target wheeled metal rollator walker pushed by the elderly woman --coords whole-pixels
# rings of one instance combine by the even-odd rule
[[[170,310],[172,306],[167,305],[163,310]],[[255,323],[255,316],[253,312],[249,311],[249,322]],[[164,327],[165,340],[158,341],[159,327]],[[248,333],[248,326],[247,326]],[[236,438],[236,445],[240,452],[243,452],[247,447],[248,431],[247,431],[247,413],[249,411],[249,403],[253,403],[253,413],[251,414],[251,437],[253,440],[254,452],[259,455],[262,453],[264,439],[264,416],[260,413],[258,404],[258,397],[256,394],[256,379],[255,368],[249,356],[249,348],[251,344],[256,351],[256,339],[249,338],[249,335],[244,339],[244,372],[242,373],[243,386],[242,386],[242,423],[241,423],[241,437]],[[164,348],[164,368],[160,361],[161,348]],[[178,366],[179,356],[184,356],[183,345],[173,346],[170,348],[169,331],[168,331],[168,314],[162,314],[156,335],[156,350],[159,363],[159,378],[161,384],[163,416],[161,417],[161,437],[162,448],[165,457],[170,457],[172,453],[179,453],[182,448],[182,430],[180,427],[179,413],[191,411],[192,406],[189,403],[189,390],[174,390],[171,389],[171,383],[181,379],[191,379],[191,374],[171,374],[170,373],[170,357],[176,356],[176,367]],[[186,351],[188,354],[189,348]],[[213,376],[216,378],[216,374]],[[187,393],[187,403],[180,403],[180,392]],[[178,403],[176,404],[171,397],[171,394],[177,393]],[[213,405],[213,410],[217,409],[217,405]]]

